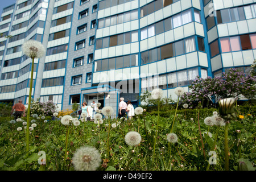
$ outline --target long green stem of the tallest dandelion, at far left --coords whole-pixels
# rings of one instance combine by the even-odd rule
[[[32,67],[31,67],[31,77],[30,77],[30,93],[28,96],[28,107],[27,107],[27,128],[26,128],[26,151],[30,150],[30,105],[31,105],[31,95],[33,86],[33,73],[34,73],[34,57],[32,57]]]

